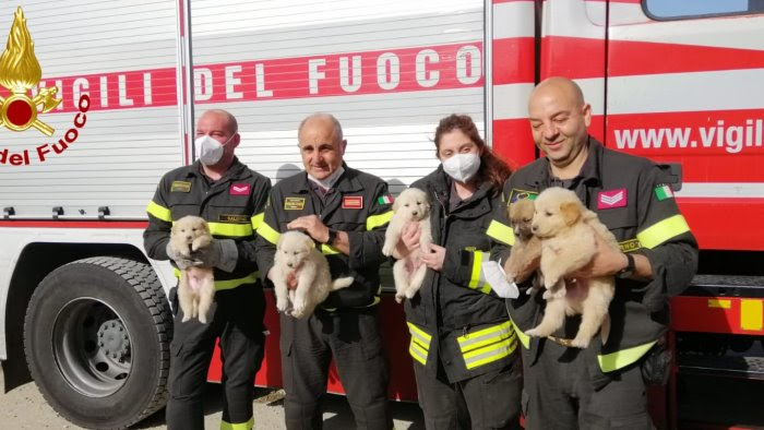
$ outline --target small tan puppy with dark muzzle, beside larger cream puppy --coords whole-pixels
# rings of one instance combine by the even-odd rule
[[[506,280],[514,283],[517,275],[534,260],[541,256],[541,240],[534,235],[532,222],[534,218],[534,201],[522,199],[512,204],[508,210],[512,232],[515,236],[515,244],[512,247],[510,258],[504,263]],[[528,288],[527,294],[534,292],[536,286]]]

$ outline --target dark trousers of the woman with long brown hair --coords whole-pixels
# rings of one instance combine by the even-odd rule
[[[414,362],[419,406],[428,430],[520,429],[523,387],[520,357],[506,367],[456,383]]]

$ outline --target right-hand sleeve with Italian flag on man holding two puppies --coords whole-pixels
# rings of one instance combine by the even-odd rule
[[[662,309],[666,295],[681,294],[697,272],[697,242],[679,212],[664,167],[652,166],[640,177],[636,238],[653,266],[645,304]]]

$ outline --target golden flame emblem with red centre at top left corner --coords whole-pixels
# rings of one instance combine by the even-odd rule
[[[34,127],[47,136],[53,135],[53,128],[37,119],[37,115],[47,114],[61,103],[56,98],[58,88],[39,88],[34,98],[27,95],[41,76],[35,44],[26,28],[24,12],[19,7],[8,34],[5,51],[0,57],[0,85],[11,92],[8,97],[0,96],[0,127],[13,131]]]

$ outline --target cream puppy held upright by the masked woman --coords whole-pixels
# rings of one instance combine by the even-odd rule
[[[395,279],[395,301],[410,299],[417,294],[425,280],[427,266],[421,262],[422,253],[430,252],[432,242],[430,232],[430,199],[417,188],[404,190],[393,203],[393,217],[387,225],[382,253],[390,256],[401,240],[401,234],[408,222],[419,223],[419,248],[393,264]]]

